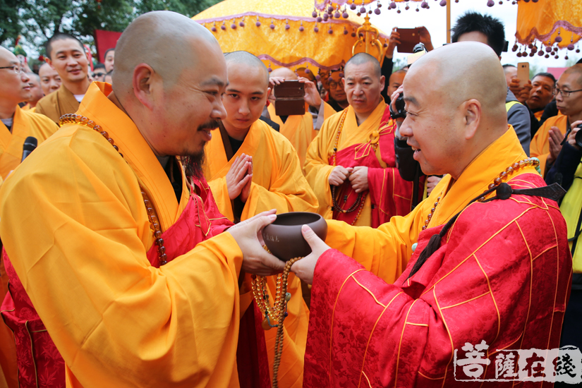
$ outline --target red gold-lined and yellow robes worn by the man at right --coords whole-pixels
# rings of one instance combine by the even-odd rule
[[[466,343],[485,341],[490,365],[481,378],[490,379],[497,349],[559,347],[572,262],[556,202],[511,195],[463,210],[500,169],[525,157],[519,147],[509,128],[454,184],[444,178],[411,214],[380,229],[328,222],[327,243],[362,265],[334,249],[317,261],[305,387],[512,387],[457,381],[454,351],[462,355]],[[520,172],[508,182],[513,188],[545,186],[531,167]],[[420,231],[437,197],[437,212]],[[439,249],[408,279],[430,237],[461,210]],[[389,284],[386,268],[411,252],[404,273]],[[541,384],[516,384],[534,386]]]

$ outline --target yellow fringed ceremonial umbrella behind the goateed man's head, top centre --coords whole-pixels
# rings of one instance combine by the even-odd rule
[[[354,52],[365,51],[358,39],[366,36],[370,54],[381,60],[388,40],[369,22],[368,30],[358,32],[368,15],[361,18],[345,6],[317,11],[313,0],[224,0],[193,19],[212,31],[222,51],[249,51],[269,68],[337,69]]]

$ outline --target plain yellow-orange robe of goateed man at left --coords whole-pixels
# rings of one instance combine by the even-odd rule
[[[229,233],[166,265],[141,188],[162,231],[186,207],[133,121],[94,83],[78,114],[0,189],[0,236],[66,363],[68,387],[238,387],[238,273]],[[15,206],[18,204],[18,206]],[[49,274],[50,276],[47,276]]]

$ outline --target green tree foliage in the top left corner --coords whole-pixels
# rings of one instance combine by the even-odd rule
[[[142,13],[168,10],[191,17],[218,1],[0,0],[0,44],[11,47],[22,35],[28,46],[40,47],[55,32],[92,43],[95,30],[123,31]]]

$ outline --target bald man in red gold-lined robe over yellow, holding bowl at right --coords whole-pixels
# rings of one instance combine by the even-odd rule
[[[541,386],[458,381],[495,379],[497,349],[558,348],[569,298],[559,195],[507,125],[506,92],[485,44],[450,44],[413,63],[400,131],[425,174],[449,176],[378,229],[329,221],[324,243],[303,226],[313,253],[292,270],[313,281],[305,387]],[[454,351],[459,361],[477,345],[479,373],[455,370]]]

